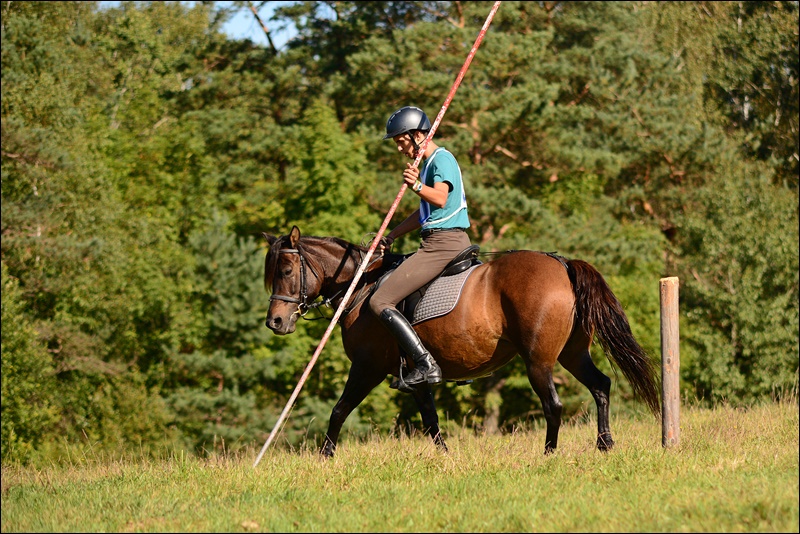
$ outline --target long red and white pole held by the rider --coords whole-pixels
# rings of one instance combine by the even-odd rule
[[[453,96],[456,94],[456,90],[458,86],[461,84],[461,80],[464,78],[464,74],[467,72],[469,68],[469,64],[472,63],[472,58],[475,56],[475,52],[478,50],[478,47],[483,41],[483,36],[486,34],[486,30],[489,29],[489,24],[491,24],[492,19],[494,18],[494,14],[497,12],[497,8],[500,7],[501,2],[495,2],[494,6],[492,6],[492,10],[489,12],[489,16],[486,17],[486,22],[483,23],[483,27],[481,31],[478,33],[477,39],[475,39],[475,43],[472,45],[472,48],[467,55],[467,60],[464,62],[464,66],[461,67],[461,70],[458,73],[458,77],[456,81],[453,82],[453,87],[450,88],[450,93],[447,95],[447,98],[442,105],[442,109],[439,110],[439,114],[436,116],[436,120],[431,125],[431,130],[428,132],[428,135],[425,137],[425,141],[422,142],[420,146],[420,150],[417,154],[417,157],[414,159],[414,167],[419,166],[419,162],[422,160],[422,154],[425,152],[425,149],[428,146],[428,143],[433,138],[433,134],[436,132],[436,129],[439,127],[439,123],[442,121],[442,117],[444,117],[445,112],[447,111],[447,107],[450,105],[450,102],[453,100]],[[406,192],[408,185],[403,182],[403,185],[400,186],[400,191],[397,193],[397,197],[394,199],[392,203],[392,207],[389,208],[389,213],[386,214],[386,217],[383,219],[383,224],[381,224],[380,229],[378,229],[378,233],[375,236],[375,239],[372,240],[372,244],[369,247],[364,259],[361,261],[361,265],[359,265],[358,270],[356,271],[356,275],[353,278],[353,281],[350,283],[350,287],[347,289],[347,292],[342,297],[342,303],[339,305],[339,308],[336,310],[336,313],[333,314],[333,318],[331,319],[331,324],[328,325],[328,329],[325,330],[325,334],[322,336],[322,340],[320,341],[317,349],[314,351],[313,356],[311,357],[311,361],[308,362],[305,371],[303,371],[303,375],[300,377],[300,381],[297,383],[297,386],[294,388],[291,397],[289,397],[289,401],[286,403],[286,407],[283,409],[280,417],[278,417],[278,421],[275,423],[275,427],[270,432],[267,441],[264,443],[264,446],[261,447],[261,452],[258,453],[258,457],[256,458],[255,462],[253,462],[253,467],[258,465],[258,462],[261,461],[261,457],[264,456],[264,453],[267,451],[267,447],[269,444],[272,443],[272,440],[278,433],[283,421],[286,419],[287,415],[289,414],[289,410],[291,409],[294,401],[297,399],[297,396],[300,394],[300,389],[303,387],[303,384],[308,379],[308,375],[311,374],[311,369],[314,367],[314,364],[317,362],[317,358],[319,358],[319,354],[322,352],[322,347],[325,346],[325,343],[328,341],[328,338],[333,332],[334,326],[336,326],[336,322],[339,320],[339,316],[342,314],[342,310],[344,309],[347,301],[350,299],[350,296],[353,294],[353,289],[356,287],[356,284],[361,279],[361,275],[364,274],[364,270],[366,269],[367,265],[369,264],[369,260],[372,257],[372,253],[375,251],[375,248],[378,246],[378,242],[380,241],[380,237],[383,236],[383,233],[386,231],[386,227],[389,226],[389,221],[391,221],[394,212],[397,210],[397,206],[400,205],[400,199],[403,198],[403,194]]]

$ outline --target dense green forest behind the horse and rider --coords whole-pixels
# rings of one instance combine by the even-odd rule
[[[4,462],[263,443],[328,322],[264,326],[261,233],[371,239],[405,165],[386,118],[436,115],[491,2],[282,5],[280,49],[221,31],[249,5],[2,4]],[[678,276],[687,401],[796,391],[798,68],[798,2],[503,2],[436,135],[472,242],[594,264],[654,360]],[[324,433],[338,335],[281,445]],[[614,411],[644,410],[593,355]],[[541,417],[519,360],[436,396],[478,432]],[[387,381],[345,429],[417,424]]]

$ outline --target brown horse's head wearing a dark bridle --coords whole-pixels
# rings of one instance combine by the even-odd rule
[[[322,280],[309,263],[297,226],[289,235],[264,237],[270,244],[264,261],[264,289],[272,291],[266,325],[278,335],[291,334],[297,318],[319,295]]]

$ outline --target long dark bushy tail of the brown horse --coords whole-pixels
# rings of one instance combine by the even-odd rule
[[[633,337],[619,300],[597,269],[582,260],[569,260],[567,265],[581,328],[590,339],[594,335],[606,356],[622,369],[634,395],[658,415],[661,394],[655,365]]]

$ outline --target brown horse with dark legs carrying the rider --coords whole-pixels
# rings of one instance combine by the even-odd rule
[[[338,309],[368,250],[335,237],[301,237],[297,226],[280,238],[264,235],[270,244],[264,285],[272,291],[266,324],[278,335],[294,332],[297,318],[315,306],[318,296]],[[352,365],[331,413],[320,450],[324,456],[333,456],[345,419],[369,392],[387,375],[399,374],[397,343],[364,304],[370,288],[400,259],[393,254],[375,258],[339,319]],[[584,261],[533,251],[501,255],[473,270],[450,313],[423,321],[415,329],[446,380],[486,376],[519,354],[542,401],[545,453],[555,450],[561,424],[561,401],[553,384],[556,361],[594,397],[597,448],[607,450],[614,444],[609,428],[611,380],[589,354],[593,337],[622,370],[634,394],[654,414],[660,412],[653,362],[634,339],[625,312],[602,275]],[[446,450],[430,387],[420,384],[412,395],[426,433]]]

